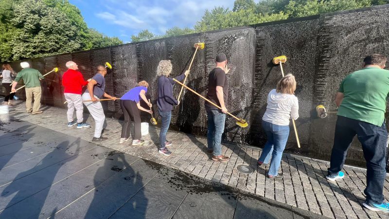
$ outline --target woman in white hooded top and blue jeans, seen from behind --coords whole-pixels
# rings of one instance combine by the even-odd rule
[[[268,164],[267,177],[282,178],[278,173],[283,150],[289,136],[289,120],[299,118],[299,101],[294,95],[296,80],[292,74],[285,75],[267,95],[267,107],[262,117],[262,127],[267,135],[267,142],[258,160],[258,165]]]

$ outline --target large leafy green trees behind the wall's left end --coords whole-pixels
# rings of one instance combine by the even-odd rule
[[[68,0],[0,0],[0,31],[1,62],[123,43],[89,29]]]

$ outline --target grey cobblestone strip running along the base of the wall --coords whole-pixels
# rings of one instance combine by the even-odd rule
[[[86,141],[92,139],[94,128],[79,130],[66,127],[66,110],[45,106],[42,108],[45,110],[43,114],[27,114],[24,103],[20,102],[17,107],[12,108],[10,115]],[[88,122],[93,126],[91,117]],[[104,136],[109,139],[99,143],[102,146],[329,218],[389,218],[387,214],[372,212],[361,206],[365,200],[364,169],[345,166],[345,178],[332,183],[325,179],[328,162],[284,154],[280,170],[283,172],[283,180],[269,180],[265,178],[265,167],[256,165],[261,152],[259,148],[225,143],[223,154],[231,157],[230,162],[213,162],[205,153],[206,139],[171,131],[168,132],[167,139],[173,141],[173,146],[169,147],[173,155],[166,157],[157,150],[158,128],[150,125],[150,134],[143,137],[150,141],[148,146],[131,146],[129,143],[120,145],[121,121],[107,119],[106,122],[109,130],[105,131]],[[240,173],[236,169],[238,164],[251,165],[254,173]],[[384,188],[386,197],[389,197],[388,189],[387,180]]]

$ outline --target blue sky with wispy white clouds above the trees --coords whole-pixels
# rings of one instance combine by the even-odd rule
[[[148,29],[154,34],[174,26],[193,28],[206,9],[224,6],[232,9],[234,0],[100,0],[105,10],[96,13],[107,23],[138,33]]]

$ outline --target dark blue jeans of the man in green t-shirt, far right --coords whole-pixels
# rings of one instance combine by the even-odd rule
[[[331,153],[331,164],[328,175],[336,176],[343,168],[347,149],[354,136],[357,135],[362,144],[363,155],[366,160],[366,201],[381,204],[384,201],[383,188],[386,176],[386,146],[388,131],[385,121],[381,126],[337,116],[334,146]]]

